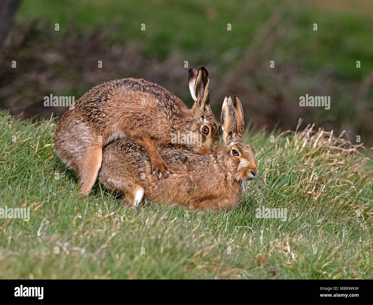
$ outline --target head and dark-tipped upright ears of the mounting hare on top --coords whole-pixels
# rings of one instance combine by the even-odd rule
[[[194,100],[188,128],[191,134],[197,135],[200,145],[193,146],[200,154],[211,153],[219,146],[221,128],[219,122],[211,111],[209,95],[209,73],[204,67],[198,71],[189,70],[189,90]]]

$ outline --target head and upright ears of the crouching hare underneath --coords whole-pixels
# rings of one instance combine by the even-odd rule
[[[222,107],[223,139],[218,151],[220,162],[233,180],[253,180],[259,170],[253,148],[242,141],[244,113],[238,97],[227,95]]]

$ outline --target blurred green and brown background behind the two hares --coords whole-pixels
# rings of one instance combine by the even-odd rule
[[[369,146],[372,16],[371,0],[23,0],[1,50],[0,107],[60,116],[66,108],[44,107],[45,95],[77,100],[125,77],[156,82],[191,106],[188,69],[204,66],[219,118],[224,96],[236,95],[254,128],[295,130],[302,118],[301,127],[346,130]],[[330,109],[300,107],[305,94],[330,96]]]

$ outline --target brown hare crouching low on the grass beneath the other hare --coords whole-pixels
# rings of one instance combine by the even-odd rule
[[[244,117],[237,97],[227,96],[222,107],[223,140],[212,154],[200,155],[185,148],[159,148],[172,170],[167,179],[149,174],[149,155],[138,143],[121,139],[103,151],[98,179],[110,190],[138,205],[145,193],[152,202],[168,202],[189,208],[219,211],[234,207],[246,180],[256,178],[253,148],[242,141]]]

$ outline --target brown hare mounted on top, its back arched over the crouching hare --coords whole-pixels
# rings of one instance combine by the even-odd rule
[[[174,145],[211,153],[219,145],[220,125],[210,108],[209,74],[204,67],[189,70],[189,89],[195,101],[192,109],[161,86],[134,78],[106,82],[79,98],[58,121],[54,147],[76,171],[81,192],[91,190],[103,147],[115,139],[132,139],[144,147],[149,173],[156,179],[170,174],[156,147]]]

